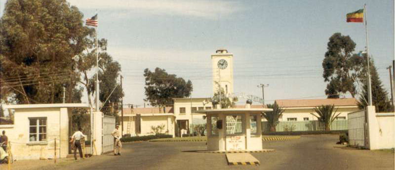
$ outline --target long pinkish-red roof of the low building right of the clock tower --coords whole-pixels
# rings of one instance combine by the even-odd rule
[[[355,98],[349,99],[301,99],[301,100],[276,100],[280,107],[316,107],[320,105],[356,106]]]

